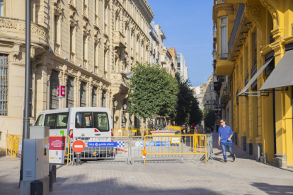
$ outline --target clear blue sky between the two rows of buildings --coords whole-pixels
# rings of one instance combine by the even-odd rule
[[[191,85],[207,83],[212,74],[212,0],[147,0],[164,45],[182,53]]]

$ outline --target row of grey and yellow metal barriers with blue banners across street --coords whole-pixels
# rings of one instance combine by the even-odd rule
[[[73,141],[81,139],[75,137]],[[146,136],[115,136],[115,137],[84,137],[86,148],[76,154],[70,143],[71,162],[79,165],[80,160],[115,159],[125,160],[133,164],[134,160],[142,160],[142,150],[146,150],[148,159],[178,159],[183,162],[183,155],[204,155],[207,163],[207,135],[146,135]],[[144,161],[145,163],[145,161]]]

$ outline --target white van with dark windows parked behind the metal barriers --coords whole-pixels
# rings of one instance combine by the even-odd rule
[[[79,137],[84,141],[113,136],[113,124],[108,107],[45,110],[40,112],[35,126],[50,126],[50,136]]]

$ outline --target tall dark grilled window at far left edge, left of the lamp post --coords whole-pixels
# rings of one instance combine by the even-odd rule
[[[0,57],[0,116],[8,114],[8,61],[7,56]]]

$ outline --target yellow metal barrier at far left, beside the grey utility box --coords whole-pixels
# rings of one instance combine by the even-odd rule
[[[10,153],[11,158],[15,158],[19,154],[19,144],[21,143],[21,139],[23,136],[20,135],[11,135],[11,134],[6,134],[6,155]]]

